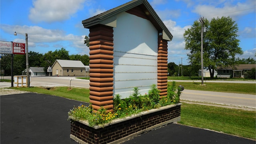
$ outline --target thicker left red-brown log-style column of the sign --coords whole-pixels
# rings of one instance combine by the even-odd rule
[[[113,111],[113,28],[96,25],[90,28],[90,103]]]

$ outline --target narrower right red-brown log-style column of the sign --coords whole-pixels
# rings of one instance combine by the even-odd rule
[[[157,88],[160,90],[160,97],[167,96],[167,40],[163,40],[162,36],[158,37],[158,57],[157,57]]]

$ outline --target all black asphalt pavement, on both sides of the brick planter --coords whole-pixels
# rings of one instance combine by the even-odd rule
[[[46,94],[0,96],[1,144],[77,144],[70,139],[68,111],[86,104]],[[168,124],[123,144],[255,144],[254,140]]]

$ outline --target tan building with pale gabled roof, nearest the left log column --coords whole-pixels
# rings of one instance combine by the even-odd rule
[[[86,76],[85,68],[78,60],[56,60],[52,65],[52,76]]]

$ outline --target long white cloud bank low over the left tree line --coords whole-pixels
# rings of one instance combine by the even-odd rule
[[[1,24],[1,30],[7,33],[14,33],[14,31],[20,33],[17,34],[13,40],[14,42],[25,43],[25,33],[27,33],[28,46],[30,48],[62,48],[68,44],[71,48],[77,48],[79,53],[84,51],[83,48],[87,48],[84,44],[84,36],[66,34],[63,30],[50,30],[40,26],[11,26],[6,24]]]

